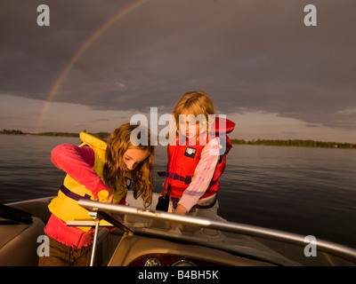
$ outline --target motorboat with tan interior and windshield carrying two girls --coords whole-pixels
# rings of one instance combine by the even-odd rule
[[[44,226],[52,197],[0,206],[0,266],[36,266],[45,253]],[[356,250],[310,236],[255,225],[142,208],[129,191],[126,205],[79,200],[91,225],[92,266],[328,266],[356,265]],[[114,227],[107,230],[103,227]],[[309,238],[308,238],[309,237]]]

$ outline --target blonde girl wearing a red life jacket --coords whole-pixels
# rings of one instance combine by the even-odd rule
[[[166,183],[161,195],[164,197],[169,191],[170,212],[216,218],[218,178],[223,174],[226,155],[231,149],[231,141],[225,134],[234,129],[235,123],[211,119],[214,104],[204,91],[185,93],[174,107],[173,115],[175,123],[170,138],[176,139],[168,145]],[[194,119],[197,117],[199,121]],[[226,127],[219,128],[219,122]],[[223,136],[215,137],[219,134]],[[223,144],[226,146],[221,151]]]

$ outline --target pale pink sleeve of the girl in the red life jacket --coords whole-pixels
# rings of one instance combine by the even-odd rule
[[[199,198],[206,193],[219,161],[220,156],[215,154],[219,151],[219,142],[210,141],[201,152],[201,158],[198,166],[194,171],[194,176],[191,178],[190,185],[182,194],[179,203],[188,211],[198,203]]]

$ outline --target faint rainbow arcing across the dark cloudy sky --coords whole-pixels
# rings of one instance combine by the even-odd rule
[[[48,111],[48,107],[50,106],[51,102],[53,101],[55,95],[57,94],[57,91],[61,87],[61,83],[63,83],[64,79],[68,75],[70,69],[73,67],[73,65],[77,62],[77,59],[79,59],[82,54],[89,48],[89,46],[99,37],[101,36],[102,33],[104,33],[108,28],[110,28],[114,23],[117,22],[117,20],[122,19],[125,17],[130,12],[133,12],[136,8],[142,6],[142,4],[145,4],[148,0],[136,0],[131,4],[128,4],[125,6],[125,8],[120,9],[118,12],[116,12],[112,17],[109,18],[109,20],[106,20],[101,26],[97,29],[94,30],[93,34],[91,36],[88,36],[88,38],[85,39],[85,42],[80,45],[80,47],[77,49],[77,51],[72,55],[72,57],[69,59],[69,62],[67,65],[63,68],[61,71],[61,74],[57,77],[57,79],[54,81],[53,86],[51,87],[50,91],[48,92],[48,95],[46,99],[44,100],[44,106],[42,108],[42,111],[40,112],[39,119],[37,122],[36,126],[36,131],[38,132],[42,126],[42,122],[44,121],[44,116]]]

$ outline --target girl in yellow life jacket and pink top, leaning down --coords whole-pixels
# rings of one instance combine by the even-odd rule
[[[53,149],[52,162],[67,176],[58,197],[48,206],[52,216],[44,233],[50,238],[50,256],[40,257],[39,265],[89,264],[93,228],[66,225],[69,220],[88,219],[88,211],[77,205],[79,199],[95,200],[106,194],[107,201],[125,204],[132,180],[134,198],[141,196],[144,205],[150,205],[154,147],[150,146],[150,133],[148,146],[133,145],[130,135],[136,127],[121,125],[107,143],[82,132],[81,146],[63,144]]]

